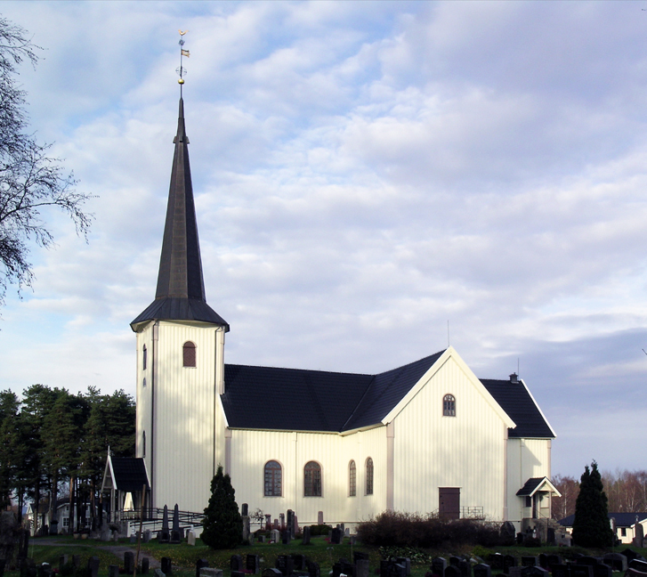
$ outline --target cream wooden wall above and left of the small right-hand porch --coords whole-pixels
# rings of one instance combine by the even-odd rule
[[[508,440],[508,518],[517,526],[523,517],[530,516],[530,508],[516,493],[532,477],[550,478],[550,451],[550,439]]]

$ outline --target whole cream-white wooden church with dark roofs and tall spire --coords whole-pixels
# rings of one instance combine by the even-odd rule
[[[230,326],[206,304],[182,99],[174,144],[157,292],[131,323],[152,507],[201,512],[222,464],[239,505],[293,509],[299,524],[392,509],[520,530],[550,516],[555,435],[516,375],[479,379],[451,347],[376,375],[225,363]]]

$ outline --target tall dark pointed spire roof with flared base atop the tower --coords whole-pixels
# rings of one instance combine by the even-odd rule
[[[155,300],[131,322],[131,327],[135,329],[141,322],[160,319],[210,322],[229,330],[227,321],[206,304],[182,98],[174,143],[158,290]]]

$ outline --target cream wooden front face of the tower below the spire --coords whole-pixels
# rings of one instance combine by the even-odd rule
[[[196,367],[182,366],[182,345],[187,341],[196,345]],[[173,508],[175,503],[181,510],[206,507],[214,475],[214,351],[214,327],[160,321],[155,369],[155,507]]]

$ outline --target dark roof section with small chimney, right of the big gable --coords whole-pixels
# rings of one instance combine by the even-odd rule
[[[533,401],[526,386],[519,380],[516,383],[493,378],[481,378],[495,401],[505,410],[516,427],[508,429],[511,439],[554,439],[551,427],[546,423],[537,404]]]

